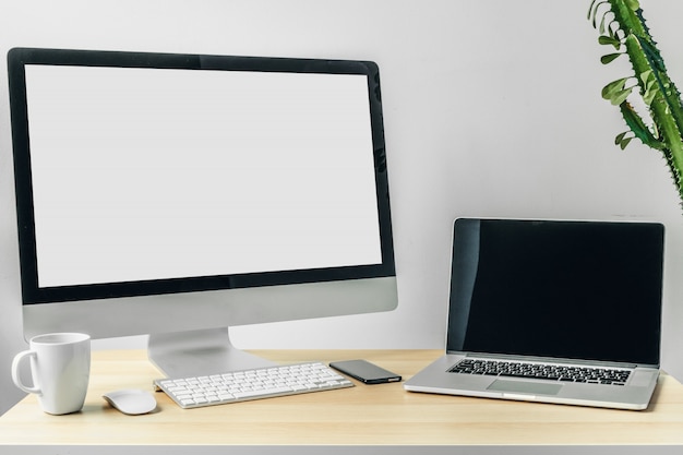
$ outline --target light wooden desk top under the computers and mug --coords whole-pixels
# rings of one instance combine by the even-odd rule
[[[262,350],[254,354],[283,363],[364,358],[407,379],[441,351]],[[227,453],[226,447],[220,447],[224,445],[252,448],[259,445],[259,454],[264,450],[275,451],[276,446],[301,454],[309,453],[307,447],[303,451],[292,447],[305,445],[310,453],[320,453],[316,445],[348,444],[357,450],[370,447],[373,454],[384,453],[382,450],[388,447],[381,446],[387,445],[414,446],[410,453],[416,453],[415,446],[419,445],[427,446],[419,453],[430,453],[431,448],[433,453],[443,450],[453,454],[459,453],[453,446],[469,447],[467,453],[472,453],[472,448],[477,453],[500,453],[496,445],[526,447],[524,453],[537,453],[535,450],[547,453],[543,446],[548,445],[609,448],[632,444],[654,445],[662,453],[683,453],[683,385],[667,374],[660,378],[652,404],[645,411],[418,394],[405,392],[398,383],[357,383],[356,387],[339,391],[188,410],[158,393],[158,410],[135,417],[120,414],[101,398],[103,393],[118,388],[152,390],[152,381],[157,376],[157,370],[142,350],[94,351],[84,409],[68,416],[50,416],[39,409],[34,396],[27,396],[0,417],[0,453],[101,455],[121,453],[122,446],[140,445],[149,453],[163,450],[168,454],[178,450],[178,453],[197,454]],[[94,448],[93,445],[106,446]],[[197,447],[188,452],[188,446]],[[486,452],[487,447],[492,452]],[[241,448],[240,453],[244,453],[249,447]],[[326,447],[326,453],[336,453],[328,448],[334,447]],[[624,448],[628,447],[619,452],[624,453]],[[391,453],[395,454],[396,447]]]

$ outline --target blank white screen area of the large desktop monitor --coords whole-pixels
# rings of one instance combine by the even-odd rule
[[[27,65],[39,287],[381,263],[364,75]]]

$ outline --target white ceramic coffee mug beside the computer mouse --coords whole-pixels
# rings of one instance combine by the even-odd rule
[[[20,378],[20,364],[31,359],[33,386]],[[56,333],[31,338],[28,350],[12,362],[12,380],[24,392],[38,395],[44,411],[53,415],[83,408],[91,375],[91,337],[79,333]]]

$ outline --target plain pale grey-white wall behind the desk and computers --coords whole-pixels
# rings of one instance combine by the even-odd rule
[[[9,3],[9,4],[8,4]],[[14,46],[375,60],[381,68],[399,307],[238,327],[242,348],[442,348],[451,221],[460,215],[648,219],[668,227],[663,368],[683,379],[683,209],[657,153],[600,88],[626,75],[586,21],[589,0],[50,0],[0,5]],[[643,0],[683,87],[683,3]],[[7,87],[4,59],[0,86]],[[7,89],[0,91],[0,412],[24,348]],[[98,347],[143,346],[144,339]]]

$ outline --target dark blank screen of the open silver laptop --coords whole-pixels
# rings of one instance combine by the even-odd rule
[[[659,366],[663,226],[457,219],[448,351]]]

